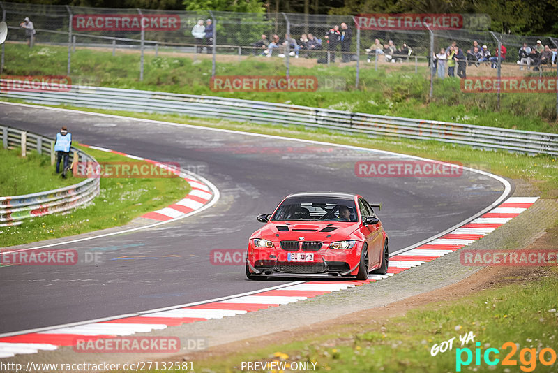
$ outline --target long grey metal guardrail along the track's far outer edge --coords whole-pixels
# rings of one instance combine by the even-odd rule
[[[3,85],[6,85],[5,80],[0,80],[0,87]],[[6,92],[4,90],[0,97],[20,98],[48,105],[70,104],[89,108],[169,112],[192,117],[212,117],[257,123],[299,124],[354,133],[368,133],[374,136],[438,140],[485,149],[558,155],[558,134],[555,133],[387,117],[361,112],[216,96],[76,86],[68,92]]]

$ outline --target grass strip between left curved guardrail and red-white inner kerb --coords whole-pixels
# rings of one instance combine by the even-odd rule
[[[99,162],[130,162],[130,159],[119,154],[100,152],[80,145],[77,147],[91,154]],[[70,178],[69,180],[77,183],[83,179]],[[66,214],[47,215],[25,221],[20,226],[0,227],[0,247],[121,226],[146,212],[158,210],[180,200],[188,191],[190,185],[180,177],[101,178],[99,196],[86,206],[78,207]]]

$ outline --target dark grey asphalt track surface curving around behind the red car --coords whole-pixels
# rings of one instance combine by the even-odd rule
[[[48,136],[66,125],[79,142],[199,170],[221,195],[193,217],[56,246],[102,252],[100,265],[1,268],[0,333],[284,284],[248,281],[243,266],[212,265],[209,252],[245,248],[261,225],[257,214],[271,212],[288,193],[348,191],[381,201],[379,217],[390,251],[397,251],[472,217],[504,191],[501,182],[468,171],[460,177],[356,177],[356,161],[394,156],[242,133],[6,104],[0,104],[0,123]]]

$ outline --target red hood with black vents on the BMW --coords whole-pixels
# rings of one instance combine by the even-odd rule
[[[359,228],[358,222],[280,221],[266,224],[257,235],[259,235],[259,238],[273,241],[299,241],[299,237],[304,237],[304,241],[332,242],[350,239],[349,235],[356,228]],[[255,237],[255,235],[252,237]]]

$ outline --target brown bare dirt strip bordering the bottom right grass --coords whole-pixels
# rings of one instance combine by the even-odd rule
[[[558,225],[541,235],[535,242],[527,246],[526,249],[556,249],[557,245]],[[205,351],[190,353],[187,356],[181,356],[181,358],[196,362],[216,358],[223,359],[234,354],[262,349],[272,344],[287,344],[299,340],[312,339],[323,335],[324,330],[338,330],[337,327],[340,326],[343,327],[342,330],[344,332],[358,332],[362,330],[363,326],[370,326],[370,323],[381,325],[386,319],[403,316],[411,309],[416,309],[432,302],[439,303],[434,307],[441,307],[444,305],[444,302],[455,301],[478,291],[519,282],[536,281],[549,276],[557,276],[557,272],[546,267],[486,267],[457,284],[393,302],[385,307],[366,309],[362,312],[354,312],[353,314],[340,316],[337,319],[320,322],[319,324],[311,324],[303,328],[286,330],[272,335],[258,336],[257,339],[246,339],[241,342],[223,344]]]

